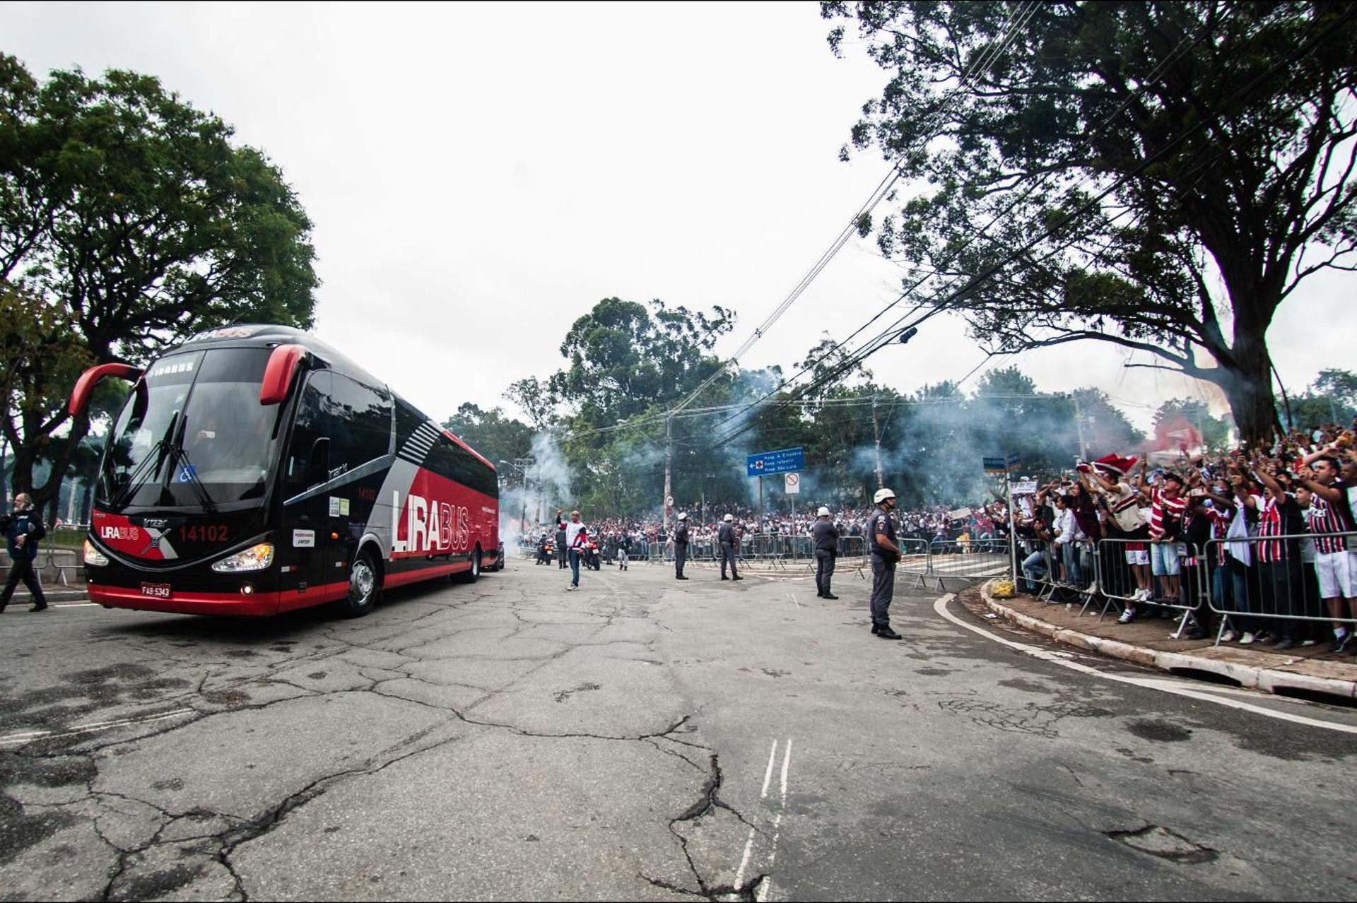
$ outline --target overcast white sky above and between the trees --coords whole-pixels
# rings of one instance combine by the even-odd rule
[[[733,353],[886,172],[837,159],[883,73],[836,60],[826,31],[816,3],[0,4],[0,46],[39,77],[155,75],[262,148],[315,221],[318,334],[440,419],[508,407],[609,296],[734,308]],[[897,286],[855,239],[744,363],[786,367]],[[1353,287],[1324,275],[1282,308],[1289,390],[1352,366]],[[909,392],[982,357],[934,320],[870,366]],[[1206,397],[1126,361],[1099,343],[1015,362],[1042,390],[1106,389],[1141,426]]]

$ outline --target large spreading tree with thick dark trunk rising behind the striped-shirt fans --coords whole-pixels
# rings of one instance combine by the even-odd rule
[[[881,247],[992,350],[1095,339],[1276,424],[1267,327],[1357,251],[1357,7],[824,3],[889,73]],[[841,50],[843,24],[830,33]],[[845,152],[847,155],[847,148]],[[1219,287],[1217,287],[1219,286]]]

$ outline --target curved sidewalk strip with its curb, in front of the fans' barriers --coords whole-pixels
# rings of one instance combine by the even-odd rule
[[[992,583],[978,590],[995,614],[1058,643],[1172,673],[1208,673],[1244,687],[1278,694],[1357,698],[1357,659],[1333,655],[1327,644],[1273,652],[1270,645],[1213,645],[1212,640],[1172,640],[1175,621],[1160,618],[1117,624],[1080,616],[1079,606],[1048,605],[1030,595],[995,599]],[[1338,701],[1335,700],[1335,701]]]

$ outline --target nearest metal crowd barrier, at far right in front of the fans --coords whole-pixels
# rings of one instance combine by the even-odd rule
[[[1208,541],[1194,569],[1200,597],[1220,617],[1216,643],[1227,630],[1304,641],[1323,639],[1329,633],[1323,624],[1357,628],[1341,601],[1342,568],[1352,568],[1350,578],[1357,580],[1357,553],[1349,549],[1357,549],[1357,533]],[[1357,587],[1349,590],[1357,593]],[[1331,599],[1339,601],[1329,607]]]

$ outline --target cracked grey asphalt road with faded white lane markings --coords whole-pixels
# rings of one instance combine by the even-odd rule
[[[1109,679],[1148,675],[936,594],[877,640],[851,574],[562,575],[11,607],[0,899],[1357,896],[1352,710]]]

